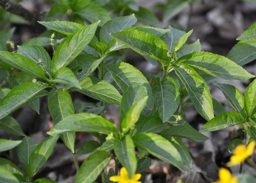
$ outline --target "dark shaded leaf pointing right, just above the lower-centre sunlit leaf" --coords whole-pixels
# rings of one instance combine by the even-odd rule
[[[197,130],[189,126],[171,126],[169,129],[163,130],[161,135],[172,135],[175,137],[182,137],[195,142],[204,142],[205,140],[210,139],[209,137],[201,134]]]

